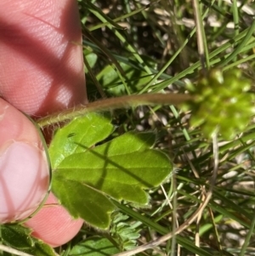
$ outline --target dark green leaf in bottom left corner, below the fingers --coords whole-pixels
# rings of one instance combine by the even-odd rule
[[[31,230],[22,225],[1,225],[3,243],[25,253],[37,256],[55,256],[52,247],[31,236]]]

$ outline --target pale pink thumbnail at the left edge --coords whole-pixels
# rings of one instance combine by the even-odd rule
[[[48,191],[49,168],[45,151],[13,141],[0,156],[0,223],[25,219]]]

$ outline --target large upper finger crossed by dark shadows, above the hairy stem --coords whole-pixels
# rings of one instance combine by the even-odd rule
[[[41,117],[86,101],[73,0],[0,2],[0,94]]]

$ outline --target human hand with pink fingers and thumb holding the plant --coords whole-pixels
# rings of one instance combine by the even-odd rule
[[[2,0],[0,31],[3,222],[24,218],[21,213],[29,208],[31,211],[32,205],[37,207],[48,190],[48,162],[41,138],[37,128],[17,109],[31,117],[42,117],[85,103],[87,98],[75,1],[16,0],[9,4]],[[50,194],[46,204],[56,202]],[[48,206],[26,225],[35,236],[56,247],[77,234],[82,219],[71,219],[60,206]]]

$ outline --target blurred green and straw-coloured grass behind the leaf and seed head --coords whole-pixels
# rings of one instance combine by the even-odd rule
[[[184,78],[196,82],[202,65],[191,1],[78,3],[89,100],[149,92],[184,93]],[[223,70],[238,66],[254,81],[254,14],[252,1],[201,0],[210,66]],[[212,143],[200,128],[190,128],[190,112],[174,106],[140,106],[112,111],[112,117],[116,134],[155,130],[156,147],[167,152],[176,168],[169,182],[151,191],[150,208],[118,205],[127,215],[124,223],[134,225],[140,236],[130,237],[129,247],[124,246],[118,229],[107,237],[119,247],[131,248],[170,232],[195,212],[212,174]],[[255,255],[254,131],[251,122],[246,133],[232,141],[219,135],[218,179],[200,221],[173,241],[139,255]],[[81,234],[105,236],[90,229]]]

